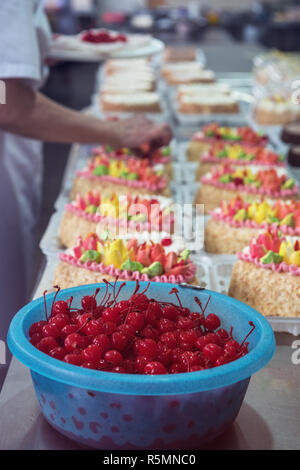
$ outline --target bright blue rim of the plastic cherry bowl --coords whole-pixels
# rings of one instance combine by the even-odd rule
[[[101,287],[101,284],[97,285]],[[135,282],[128,281],[127,284],[135,285]],[[143,284],[147,285],[141,282],[141,288]],[[174,287],[173,284],[164,284],[164,287],[168,286],[170,289]],[[180,290],[180,285],[177,287]],[[95,288],[95,284],[72,287],[61,292],[71,296],[79,288],[84,295],[84,291]],[[250,314],[252,321],[261,331],[261,337],[254,349],[242,358],[223,366],[192,373],[147,376],[102,372],[67,364],[39,351],[29,342],[23,331],[26,316],[33,307],[38,304],[42,306],[43,297],[33,300],[16,313],[9,327],[8,346],[12,354],[31,371],[51,380],[87,390],[128,395],[176,395],[226,387],[249,378],[271,360],[275,352],[274,333],[267,319],[252,307],[218,292],[206,289],[204,292],[215,298],[222,298],[238,310]],[[54,293],[48,294],[47,301],[52,301],[53,296]]]

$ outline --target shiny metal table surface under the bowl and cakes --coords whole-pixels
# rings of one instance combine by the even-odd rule
[[[240,77],[236,79],[241,83]],[[249,87],[248,77],[245,77],[243,84],[245,88]],[[175,132],[179,140],[190,137],[190,127],[181,128],[180,131]],[[56,210],[60,210],[66,202],[78,161],[86,157],[86,150],[84,146],[73,146],[62,191],[55,204]],[[46,245],[47,242],[48,249],[51,248],[51,237],[52,232],[48,229],[42,240],[42,244]],[[52,240],[53,251],[56,249],[55,240]],[[54,262],[50,258],[49,254],[34,297],[40,297],[43,291],[51,287]],[[276,333],[275,355],[264,369],[251,378],[236,421],[227,432],[209,443],[206,449],[300,449],[300,364],[292,362],[295,351],[292,344],[295,340],[296,337],[292,335]],[[59,434],[44,419],[35,397],[30,372],[15,358],[12,359],[0,394],[0,416],[2,450],[79,449],[76,443]]]

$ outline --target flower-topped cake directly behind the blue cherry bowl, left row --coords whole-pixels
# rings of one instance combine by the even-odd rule
[[[124,280],[197,284],[196,266],[182,241],[139,243],[137,239],[110,240],[89,234],[60,253],[54,285],[65,289],[83,284]]]

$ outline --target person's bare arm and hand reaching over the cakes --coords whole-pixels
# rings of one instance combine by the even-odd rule
[[[140,147],[147,142],[167,145],[169,126],[157,125],[140,116],[120,121],[102,121],[73,111],[32,90],[22,80],[4,80],[6,104],[0,105],[0,128],[48,142],[103,143]]]

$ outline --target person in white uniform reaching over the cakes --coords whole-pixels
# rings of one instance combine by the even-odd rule
[[[104,122],[38,92],[50,29],[41,0],[2,0],[0,8],[0,339],[24,304],[31,281],[42,176],[41,142],[138,147],[171,131],[145,118]]]

